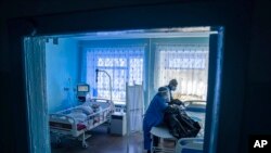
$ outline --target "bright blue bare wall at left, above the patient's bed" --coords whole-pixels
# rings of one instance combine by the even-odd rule
[[[78,46],[74,39],[49,39],[46,44],[47,101],[49,113],[77,105]]]

